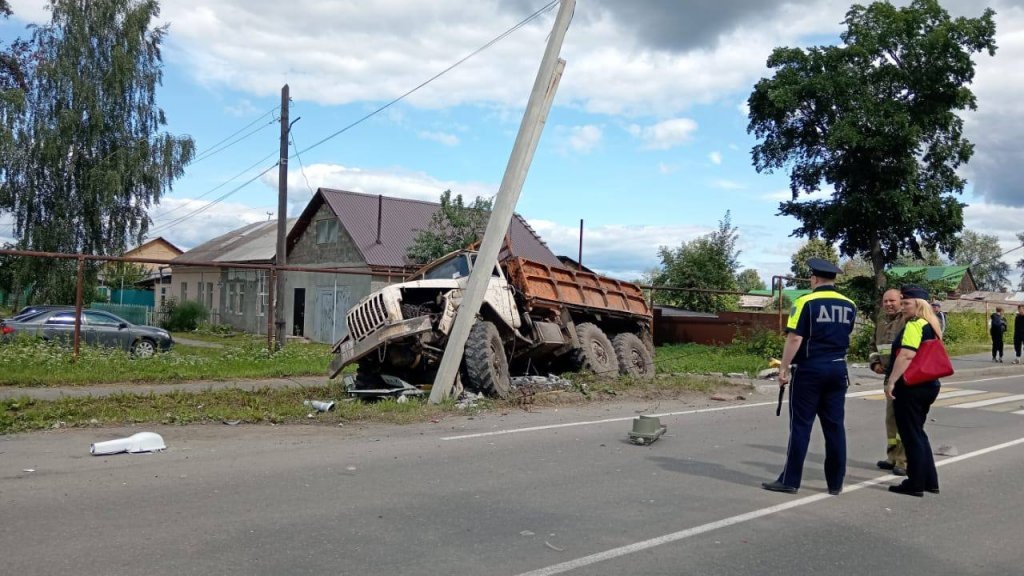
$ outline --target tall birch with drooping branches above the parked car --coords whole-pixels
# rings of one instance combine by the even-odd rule
[[[0,210],[17,247],[120,254],[142,240],[147,209],[191,160],[191,138],[164,131],[156,0],[50,0],[35,29],[33,69],[13,154],[0,159]],[[96,266],[89,268],[90,280]],[[74,262],[24,259],[37,301],[69,301]]]

